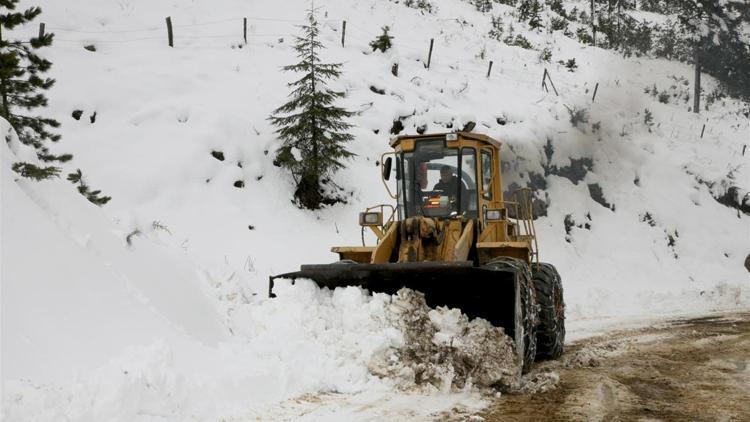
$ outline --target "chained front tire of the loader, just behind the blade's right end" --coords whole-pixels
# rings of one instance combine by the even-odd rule
[[[523,373],[528,372],[536,358],[536,326],[539,323],[537,317],[536,290],[529,265],[520,259],[511,257],[499,257],[484,265],[484,268],[495,271],[512,272],[516,276],[520,296],[520,318],[517,317],[515,332],[516,350],[519,358],[522,357]],[[518,328],[522,331],[519,335]],[[520,342],[520,337],[523,342]]]

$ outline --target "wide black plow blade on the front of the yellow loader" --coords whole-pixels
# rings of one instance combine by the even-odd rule
[[[395,294],[401,288],[419,291],[432,307],[458,308],[469,318],[484,318],[513,337],[516,277],[512,271],[474,267],[472,262],[409,262],[389,264],[334,263],[303,265],[300,271],[270,277],[310,279],[319,287],[357,286],[372,293]]]

